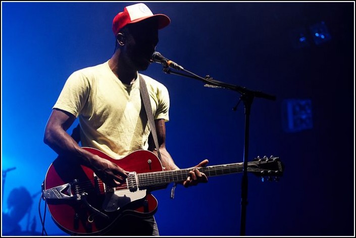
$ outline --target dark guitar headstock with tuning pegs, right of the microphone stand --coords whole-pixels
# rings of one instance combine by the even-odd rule
[[[247,171],[262,177],[263,182],[266,178],[268,181],[278,181],[279,177],[283,175],[283,169],[283,163],[279,160],[279,157],[275,156],[264,156],[263,158],[258,156],[247,166]]]

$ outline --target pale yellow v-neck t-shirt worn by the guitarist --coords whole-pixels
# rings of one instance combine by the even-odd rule
[[[141,76],[147,85],[154,118],[168,121],[167,88],[146,75]],[[139,80],[123,84],[110,69],[109,61],[71,74],[53,108],[78,117],[83,147],[98,149],[114,159],[148,149],[150,129]]]

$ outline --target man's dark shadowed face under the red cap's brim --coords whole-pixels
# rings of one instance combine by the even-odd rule
[[[147,19],[130,25],[126,37],[126,56],[137,70],[146,70],[158,43],[157,21]]]

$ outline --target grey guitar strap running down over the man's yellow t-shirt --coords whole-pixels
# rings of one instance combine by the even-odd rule
[[[146,82],[144,81],[144,79],[142,78],[142,76],[139,73],[138,73],[138,77],[140,79],[140,94],[141,94],[141,98],[143,101],[144,109],[146,110],[148,124],[151,129],[152,136],[154,137],[155,146],[156,146],[157,153],[158,153],[158,158],[160,159],[160,161],[162,161],[160,147],[158,145],[158,138],[157,138],[154,115],[152,114],[152,107],[151,107],[151,102],[149,101],[149,95],[148,95],[148,91],[147,91]]]

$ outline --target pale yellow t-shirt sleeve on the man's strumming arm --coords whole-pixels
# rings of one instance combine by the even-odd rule
[[[90,85],[87,77],[80,71],[72,73],[53,107],[73,114],[78,117],[89,97]]]

